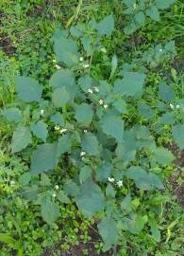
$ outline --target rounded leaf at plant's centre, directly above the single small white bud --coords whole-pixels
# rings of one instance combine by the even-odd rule
[[[76,106],[75,119],[82,125],[88,126],[92,121],[92,106],[82,103]]]

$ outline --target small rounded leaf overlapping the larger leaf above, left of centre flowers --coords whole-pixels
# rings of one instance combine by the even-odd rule
[[[70,99],[70,94],[65,87],[56,89],[52,94],[52,102],[56,107],[64,106]]]

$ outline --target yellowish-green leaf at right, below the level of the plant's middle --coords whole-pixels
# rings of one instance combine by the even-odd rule
[[[155,157],[159,164],[170,164],[175,159],[174,155],[164,148],[157,148]]]

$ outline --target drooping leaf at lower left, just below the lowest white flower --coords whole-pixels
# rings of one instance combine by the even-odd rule
[[[58,219],[59,207],[49,198],[45,197],[42,199],[41,209],[42,217],[49,225],[52,225]]]

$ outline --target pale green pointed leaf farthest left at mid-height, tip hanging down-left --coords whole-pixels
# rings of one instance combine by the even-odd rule
[[[20,152],[25,149],[26,146],[32,142],[31,133],[28,127],[18,126],[13,132],[11,148],[12,153]]]

